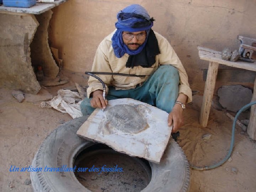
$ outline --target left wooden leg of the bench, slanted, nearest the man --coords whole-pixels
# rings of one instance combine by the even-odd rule
[[[200,124],[202,127],[207,126],[210,107],[212,105],[212,97],[217,78],[219,63],[209,62],[209,68],[207,72],[206,85],[204,87],[203,103],[200,113]]]

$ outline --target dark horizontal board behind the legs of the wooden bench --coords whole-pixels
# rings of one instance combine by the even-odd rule
[[[203,81],[206,81],[208,69],[203,69]],[[249,82],[253,83],[256,76],[255,71],[241,69],[218,69],[217,81],[223,82]]]

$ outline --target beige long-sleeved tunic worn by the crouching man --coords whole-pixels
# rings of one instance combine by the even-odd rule
[[[146,75],[145,77],[127,77],[118,75],[97,75],[106,84],[106,91],[108,92],[108,86],[114,86],[116,90],[119,89],[133,89],[137,84],[143,83],[154,73],[159,65],[172,65],[178,69],[180,75],[179,93],[183,93],[188,96],[187,102],[192,101],[192,91],[188,84],[188,76],[184,69],[180,59],[171,47],[170,43],[166,38],[161,36],[159,33],[154,32],[158,40],[160,54],[156,55],[156,62],[149,68],[143,68],[142,66],[134,66],[134,68],[127,68],[126,62],[129,55],[126,53],[121,58],[117,58],[112,48],[111,38],[114,34],[105,37],[97,48],[94,63],[92,65],[92,71],[98,72],[111,72],[111,73],[125,73],[125,74],[136,74]],[[94,77],[88,80],[87,97],[90,97],[91,92],[98,89],[102,90],[102,84]]]

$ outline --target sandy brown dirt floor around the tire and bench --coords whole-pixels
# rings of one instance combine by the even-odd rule
[[[57,95],[57,90],[84,84],[82,74],[68,73],[69,83],[44,87],[39,94],[26,94],[19,103],[12,90],[0,89],[0,191],[33,191],[29,172],[10,172],[11,166],[28,167],[44,138],[55,128],[71,119],[69,114],[52,108],[40,108],[38,103]],[[185,110],[186,124],[180,129],[178,143],[188,161],[195,166],[211,165],[226,155],[231,138],[232,121],[225,111],[210,111],[208,126],[202,128],[198,117],[202,93]],[[248,113],[248,112],[247,112]],[[246,113],[244,116],[248,116]],[[210,138],[202,136],[210,134]],[[256,191],[256,142],[236,127],[234,150],[229,161],[214,170],[191,170],[191,192],[254,192]]]

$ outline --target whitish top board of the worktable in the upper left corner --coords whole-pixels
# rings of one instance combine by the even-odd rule
[[[66,2],[67,0],[58,0],[54,3],[49,3],[49,4],[42,4],[42,3],[37,3],[36,5],[29,7],[29,8],[24,8],[24,7],[5,7],[4,5],[0,6],[0,13],[5,13],[5,14],[14,14],[17,13],[20,14],[41,14],[45,11],[48,11],[52,9],[55,6],[58,6],[59,4],[62,4]]]

